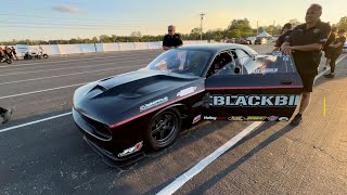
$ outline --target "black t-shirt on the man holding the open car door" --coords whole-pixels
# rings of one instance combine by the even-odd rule
[[[287,42],[291,46],[306,46],[320,43],[324,44],[331,31],[331,26],[327,23],[319,21],[316,26],[306,29],[306,24],[298,25],[291,34]],[[299,73],[307,75],[317,75],[318,66],[321,62],[322,52],[317,51],[294,51],[293,57],[295,66]]]

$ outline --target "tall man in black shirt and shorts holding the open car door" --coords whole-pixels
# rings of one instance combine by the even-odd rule
[[[281,47],[283,53],[293,53],[296,69],[304,83],[299,113],[291,121],[293,126],[300,123],[301,115],[310,103],[314,77],[318,75],[322,56],[321,49],[331,31],[331,26],[320,21],[321,15],[322,6],[311,4],[306,13],[306,23],[298,25]]]

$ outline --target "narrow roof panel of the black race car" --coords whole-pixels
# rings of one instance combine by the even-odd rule
[[[204,44],[188,44],[180,47],[181,50],[195,50],[195,51],[207,51],[210,53],[219,53],[226,50],[234,50],[234,49],[242,49],[245,50],[248,54],[258,54],[252,48],[243,46],[243,44],[235,44],[235,43],[204,43]]]

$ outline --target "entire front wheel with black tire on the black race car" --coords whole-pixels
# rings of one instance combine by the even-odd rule
[[[155,151],[171,145],[182,127],[181,114],[176,108],[166,108],[154,115],[146,130],[146,140]]]

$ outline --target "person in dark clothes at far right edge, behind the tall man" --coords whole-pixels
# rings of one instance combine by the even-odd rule
[[[339,29],[336,39],[334,40],[333,43],[329,46],[332,50],[331,61],[330,61],[331,73],[327,75],[324,75],[325,78],[335,77],[336,60],[343,53],[345,42],[346,42],[345,30]]]

